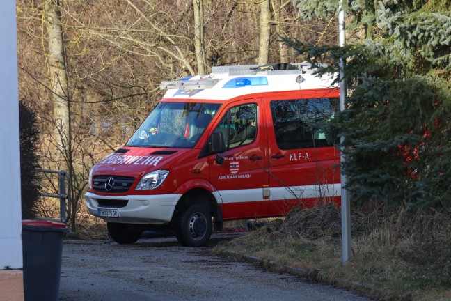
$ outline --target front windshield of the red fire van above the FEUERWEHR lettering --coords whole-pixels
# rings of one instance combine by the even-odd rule
[[[193,148],[220,104],[159,102],[126,146]]]

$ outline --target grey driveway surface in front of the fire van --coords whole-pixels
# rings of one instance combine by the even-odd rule
[[[212,236],[209,247],[181,247],[175,238],[64,240],[60,300],[368,300],[356,293],[250,263],[212,256],[232,234]]]

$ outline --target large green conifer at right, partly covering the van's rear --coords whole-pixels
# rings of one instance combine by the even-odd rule
[[[338,1],[293,3],[308,20],[338,13]],[[342,173],[353,200],[450,207],[450,1],[359,0],[345,6],[348,29],[363,37],[357,43],[285,43],[320,74],[338,72],[340,57],[347,61],[347,109],[327,130],[345,137]]]

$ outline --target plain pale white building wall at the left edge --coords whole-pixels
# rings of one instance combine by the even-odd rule
[[[0,0],[0,270],[22,264],[15,0]]]

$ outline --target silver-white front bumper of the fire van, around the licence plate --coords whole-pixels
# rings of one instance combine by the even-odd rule
[[[97,209],[118,209],[119,217],[100,217],[106,222],[129,224],[167,224],[171,222],[175,205],[182,194],[103,196],[86,192],[85,201],[91,215],[98,217]],[[126,201],[125,206],[106,205]],[[102,203],[102,205],[100,205]]]

